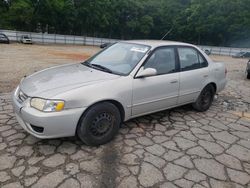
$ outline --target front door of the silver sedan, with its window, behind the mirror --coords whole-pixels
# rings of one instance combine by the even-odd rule
[[[174,47],[156,49],[143,65],[154,68],[157,75],[133,81],[132,116],[139,116],[177,105],[179,72]]]

